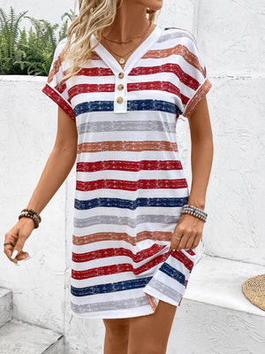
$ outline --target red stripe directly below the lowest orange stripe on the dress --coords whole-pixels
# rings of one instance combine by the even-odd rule
[[[115,257],[115,256],[128,256],[132,258],[133,262],[141,262],[151,256],[154,256],[155,253],[158,253],[160,250],[163,250],[166,246],[159,245],[154,243],[151,247],[145,250],[140,250],[136,254],[132,250],[127,250],[123,247],[119,248],[109,248],[104,250],[94,250],[87,253],[74,253],[72,252],[72,260],[76,263],[88,262],[90,260]]]

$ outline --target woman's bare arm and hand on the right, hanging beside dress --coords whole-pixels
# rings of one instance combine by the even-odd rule
[[[212,129],[206,96],[196,104],[187,117],[191,133],[192,186],[188,203],[204,210],[208,180],[214,155]],[[173,250],[193,249],[202,237],[204,222],[190,214],[182,214],[173,232],[170,248]],[[180,240],[175,237],[180,238]]]

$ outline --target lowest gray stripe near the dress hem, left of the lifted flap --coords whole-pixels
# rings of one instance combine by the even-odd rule
[[[123,310],[123,309],[132,309],[133,307],[140,307],[149,305],[148,297],[132,297],[125,300],[117,301],[108,301],[104,303],[95,303],[95,304],[73,304],[71,302],[71,308],[73,312],[102,312],[102,311],[111,311],[111,310]]]

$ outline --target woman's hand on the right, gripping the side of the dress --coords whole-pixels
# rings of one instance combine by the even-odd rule
[[[201,241],[203,226],[204,222],[201,219],[191,214],[182,214],[172,234],[170,250],[194,249],[197,247]]]

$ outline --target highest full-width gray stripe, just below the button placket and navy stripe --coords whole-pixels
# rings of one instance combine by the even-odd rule
[[[115,131],[161,131],[176,132],[176,123],[168,123],[158,120],[119,120],[119,121],[97,121],[80,124],[79,134],[89,132],[115,132]]]

